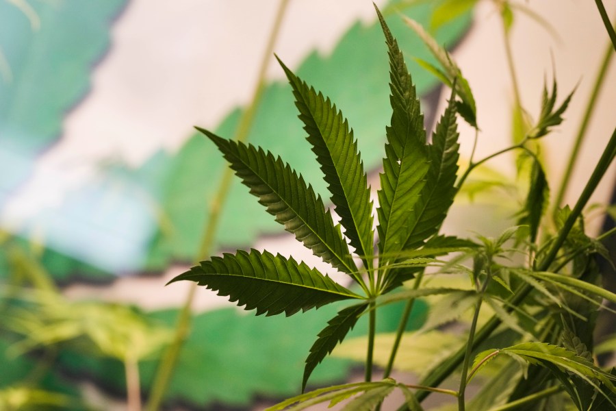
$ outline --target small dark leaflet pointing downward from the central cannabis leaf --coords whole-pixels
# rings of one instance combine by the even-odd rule
[[[325,327],[319,334],[315,343],[310,347],[310,353],[306,359],[304,368],[304,378],[302,382],[302,392],[306,388],[306,383],[312,371],[316,366],[335,348],[335,346],[343,340],[344,336],[355,327],[355,323],[359,316],[363,314],[368,307],[368,303],[360,303],[355,306],[344,308],[338,314],[327,322]]]

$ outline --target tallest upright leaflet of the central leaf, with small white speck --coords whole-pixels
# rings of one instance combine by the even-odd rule
[[[387,144],[378,190],[378,249],[383,255],[402,250],[409,223],[429,168],[424,116],[398,43],[376,10],[389,49],[392,123],[387,127]],[[386,258],[379,260],[383,266]]]

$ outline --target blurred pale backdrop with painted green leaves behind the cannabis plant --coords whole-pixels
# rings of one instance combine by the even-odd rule
[[[376,3],[407,56],[430,129],[449,91],[415,62],[434,60],[398,13],[429,29],[439,2]],[[477,158],[511,144],[514,95],[496,3],[478,1],[433,31],[474,92]],[[565,122],[543,142],[557,184],[608,38],[590,1],[512,3],[519,5],[511,42],[524,108],[537,117],[543,83],[554,76],[559,101],[576,89]],[[615,16],[616,1],[605,3]],[[279,6],[0,0],[0,396],[42,396],[33,409],[121,410],[127,382],[139,371],[148,398],[190,287],[164,284],[196,262],[226,167],[192,127],[234,136]],[[372,2],[291,0],[274,51],[348,118],[374,188],[390,109]],[[324,192],[283,71],[273,56],[269,63],[248,140],[281,155]],[[577,197],[613,131],[614,90],[611,64],[565,202]],[[461,124],[466,160],[473,138]],[[499,179],[514,175],[513,156],[490,166]],[[591,202],[610,201],[615,173],[612,167]],[[461,201],[446,229],[498,232],[515,221],[517,206],[506,194]],[[591,221],[595,230],[602,223]],[[210,251],[268,248],[319,264],[281,233],[234,181]],[[409,327],[428,310],[420,308]],[[166,406],[251,409],[297,394],[308,349],[336,310],[265,319],[199,289]],[[395,329],[399,310],[381,314],[381,331]],[[358,325],[354,335],[365,328]],[[329,358],[311,384],[344,382],[353,369],[350,360]]]

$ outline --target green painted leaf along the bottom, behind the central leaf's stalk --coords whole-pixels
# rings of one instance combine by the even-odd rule
[[[333,303],[290,317],[252,316],[236,308],[195,315],[165,401],[182,401],[195,409],[214,403],[245,408],[255,397],[283,399],[297,395],[306,353],[339,306],[340,303]],[[404,308],[404,302],[380,308],[376,313],[377,332],[395,332]],[[418,329],[427,310],[424,301],[417,301],[407,329]],[[178,314],[179,310],[164,310],[147,315],[153,321],[174,327]],[[368,322],[359,321],[348,335],[363,336],[367,332]],[[339,384],[348,377],[352,364],[349,360],[325,358],[311,374],[311,384]],[[140,364],[144,392],[151,385],[156,366],[156,360]],[[107,392],[119,397],[126,395],[124,369],[119,361],[64,350],[58,369],[87,375]],[[259,378],[255,378],[257,372]],[[2,377],[0,373],[0,382]]]

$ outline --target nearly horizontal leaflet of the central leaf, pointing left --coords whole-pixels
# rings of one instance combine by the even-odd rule
[[[213,257],[169,283],[183,279],[218,291],[218,295],[228,295],[229,301],[238,301],[245,310],[256,308],[257,315],[285,312],[290,316],[333,301],[361,298],[303,262],[254,249]]]

